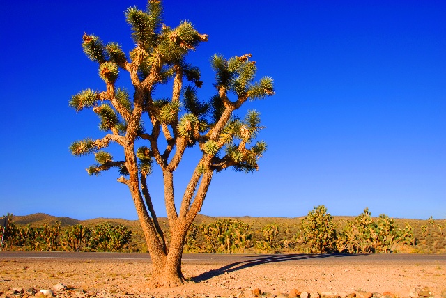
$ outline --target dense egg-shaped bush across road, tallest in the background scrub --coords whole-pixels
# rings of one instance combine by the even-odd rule
[[[314,207],[302,221],[302,242],[308,253],[330,253],[335,250],[336,228],[324,205]]]

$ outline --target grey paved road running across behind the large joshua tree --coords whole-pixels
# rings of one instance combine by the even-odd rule
[[[25,262],[151,262],[148,253],[69,253],[69,252],[22,252],[1,251],[0,262],[16,260]],[[268,264],[296,265],[296,263],[317,264],[370,264],[392,262],[408,264],[445,264],[446,255],[419,254],[371,254],[371,255],[223,255],[223,254],[185,254],[184,263],[195,264]]]

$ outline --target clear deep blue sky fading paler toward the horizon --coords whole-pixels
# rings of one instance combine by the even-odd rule
[[[128,52],[123,11],[135,5],[146,1],[3,1],[1,214],[137,218],[118,173],[89,177],[84,168],[93,157],[68,150],[72,141],[102,135],[93,112],[68,107],[82,89],[104,88],[98,65],[82,52],[82,34]],[[202,70],[201,99],[213,93],[214,53],[252,53],[259,78],[275,79],[274,97],[247,106],[266,126],[260,170],[215,175],[202,214],[300,217],[323,204],[333,215],[369,207],[375,216],[445,218],[445,1],[164,5],[167,25],[187,19],[209,35],[190,55]],[[118,85],[130,88],[124,72]],[[178,195],[191,164],[176,177]],[[158,171],[150,185],[165,216]]]

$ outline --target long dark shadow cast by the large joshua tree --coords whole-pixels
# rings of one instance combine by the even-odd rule
[[[344,257],[351,255],[344,254],[318,254],[318,255],[305,255],[305,254],[286,254],[286,255],[261,255],[261,256],[252,256],[253,260],[246,260],[241,262],[233,262],[229,265],[224,265],[218,269],[213,269],[208,272],[204,272],[197,276],[192,277],[192,281],[195,283],[199,283],[201,281],[206,281],[208,279],[212,279],[215,276],[219,276],[222,274],[235,272],[241,269],[254,267],[262,264],[270,264],[275,262],[286,262],[291,260],[310,260],[310,259],[320,259],[320,258],[328,258],[328,257]]]

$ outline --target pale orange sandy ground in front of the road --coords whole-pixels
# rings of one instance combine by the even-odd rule
[[[63,283],[74,290],[54,291],[59,297],[190,297],[238,295],[259,288],[278,295],[295,288],[306,292],[393,292],[408,296],[413,288],[446,294],[445,262],[428,265],[286,265],[265,264],[219,270],[222,265],[184,264],[190,280],[177,288],[147,288],[147,262],[0,262],[0,297],[13,288],[51,289]],[[84,291],[82,291],[84,290]]]

